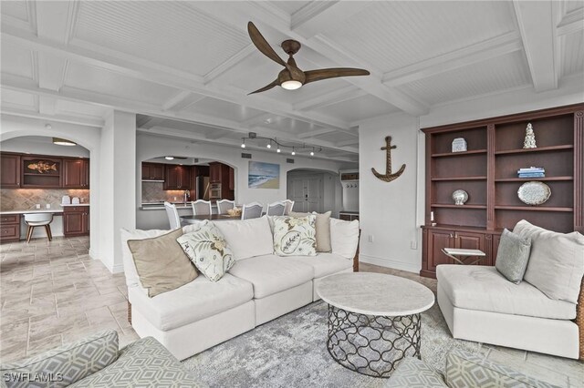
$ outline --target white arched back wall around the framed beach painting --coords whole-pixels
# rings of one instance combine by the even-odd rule
[[[287,197],[287,171],[295,168],[316,168],[338,173],[341,168],[355,168],[355,163],[341,163],[318,158],[291,157],[276,154],[276,152],[245,149],[251,153],[254,161],[276,163],[280,165],[279,189],[249,189],[247,187],[247,170],[250,159],[241,158],[242,149],[224,147],[206,143],[185,142],[182,139],[161,138],[147,134],[139,134],[136,140],[136,204],[141,203],[141,162],[161,155],[174,155],[187,158],[208,158],[223,162],[235,169],[235,202],[246,203],[257,201],[264,205]],[[295,163],[289,164],[287,158],[294,158]],[[140,205],[138,205],[140,206]],[[136,206],[136,225],[141,228],[141,212]]]

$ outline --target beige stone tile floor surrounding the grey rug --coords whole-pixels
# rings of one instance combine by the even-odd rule
[[[122,273],[89,258],[89,238],[55,238],[0,245],[0,361],[9,362],[115,329],[120,345],[138,335],[127,321]],[[390,273],[436,290],[436,281],[366,263],[360,271]],[[482,345],[481,352],[548,383],[584,387],[582,363],[534,352]]]

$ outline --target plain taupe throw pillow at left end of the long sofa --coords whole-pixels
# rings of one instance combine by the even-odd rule
[[[128,240],[141,285],[153,297],[193,281],[198,273],[176,241],[183,230],[172,230],[152,239]]]

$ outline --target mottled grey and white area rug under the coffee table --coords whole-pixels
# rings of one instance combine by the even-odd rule
[[[327,303],[316,301],[185,360],[210,387],[381,387],[386,379],[349,371],[327,351]],[[422,313],[422,360],[443,371],[453,349],[478,352],[477,342],[454,340],[434,304]]]

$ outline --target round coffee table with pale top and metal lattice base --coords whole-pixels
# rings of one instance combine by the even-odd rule
[[[420,358],[420,313],[434,294],[415,281],[371,272],[339,273],[318,283],[328,303],[327,348],[352,371],[390,377],[407,356]]]

